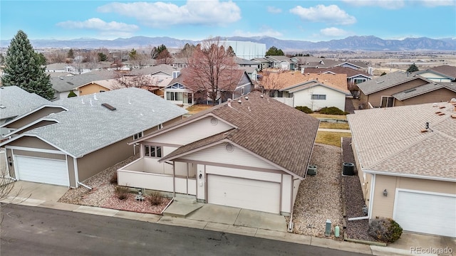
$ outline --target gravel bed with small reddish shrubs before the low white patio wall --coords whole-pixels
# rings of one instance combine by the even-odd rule
[[[85,185],[92,188],[91,191],[83,186],[70,189],[58,201],[81,206],[96,206],[115,210],[128,210],[137,213],[160,214],[167,206],[167,203],[170,202],[170,198],[162,198],[162,203],[157,206],[152,206],[151,203],[147,201],[147,196],[145,201],[136,201],[135,196],[137,194],[135,193],[128,193],[127,198],[123,200],[118,199],[115,195],[116,184],[110,183],[111,177],[115,174],[117,169],[136,159],[138,159],[138,154],[83,181]]]

